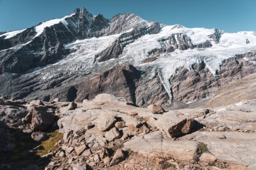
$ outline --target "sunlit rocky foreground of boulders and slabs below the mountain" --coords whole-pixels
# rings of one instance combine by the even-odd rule
[[[204,108],[175,111],[109,94],[82,103],[0,97],[0,169],[256,169],[255,78],[222,87]]]

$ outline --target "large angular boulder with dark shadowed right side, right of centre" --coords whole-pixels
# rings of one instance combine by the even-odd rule
[[[156,128],[174,138],[189,133],[193,126],[193,120],[187,119],[177,112],[165,113],[155,122]]]

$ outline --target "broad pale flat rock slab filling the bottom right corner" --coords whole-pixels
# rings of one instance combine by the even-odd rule
[[[195,140],[207,144],[219,162],[256,165],[256,133],[204,131]]]

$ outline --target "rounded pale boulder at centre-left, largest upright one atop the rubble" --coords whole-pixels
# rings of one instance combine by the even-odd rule
[[[97,128],[100,131],[106,131],[114,126],[115,121],[115,114],[112,112],[105,112],[101,113],[97,120]]]

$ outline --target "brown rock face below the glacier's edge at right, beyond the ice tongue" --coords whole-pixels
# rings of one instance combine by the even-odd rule
[[[220,65],[216,76],[210,73],[204,62],[192,65],[191,70],[180,68],[170,78],[174,99],[185,102],[202,99],[220,86],[255,73],[255,67],[244,59],[230,58]]]

